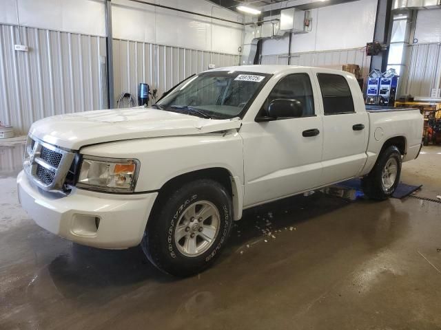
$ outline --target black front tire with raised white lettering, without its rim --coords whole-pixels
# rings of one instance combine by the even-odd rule
[[[181,215],[196,201],[209,201],[216,206],[220,219],[214,242],[203,254],[185,256],[174,239]],[[198,274],[211,266],[223,250],[232,228],[232,200],[224,186],[210,179],[185,184],[160,202],[147,221],[141,248],[147,259],[159,270],[174,276]]]

